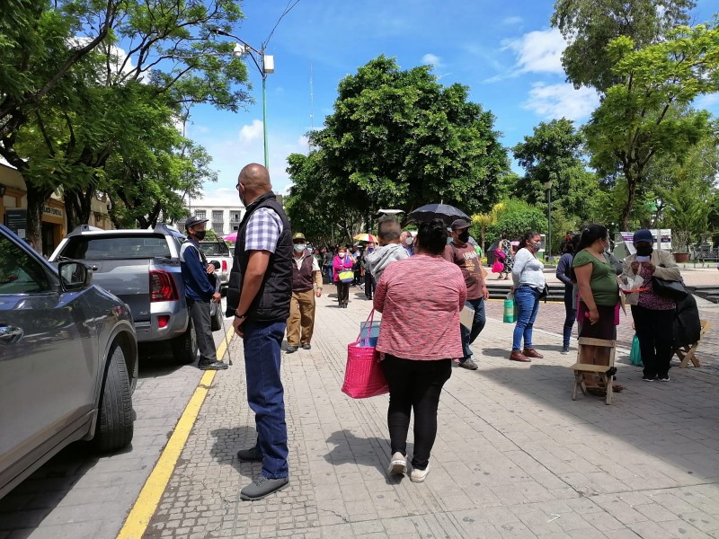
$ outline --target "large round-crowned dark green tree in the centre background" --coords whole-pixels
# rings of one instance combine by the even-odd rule
[[[319,167],[310,175],[366,220],[377,208],[440,200],[469,213],[489,208],[509,169],[493,123],[467,102],[466,86],[442,86],[428,66],[402,71],[380,56],[342,79],[333,114],[309,134]]]

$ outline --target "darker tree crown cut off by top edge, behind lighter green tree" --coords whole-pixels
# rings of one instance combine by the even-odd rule
[[[607,46],[620,36],[636,49],[657,43],[679,24],[689,22],[694,0],[556,0],[552,26],[568,41],[562,66],[574,87],[604,93],[622,81],[613,70]]]

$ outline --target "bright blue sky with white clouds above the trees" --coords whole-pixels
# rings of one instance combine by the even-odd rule
[[[294,3],[294,0],[292,0]],[[269,36],[287,0],[246,1],[235,35],[255,49]],[[502,144],[513,146],[540,121],[566,117],[578,124],[599,100],[564,82],[564,40],[550,28],[549,0],[300,0],[277,26],[267,54],[267,127],[274,190],[290,181],[291,153],[307,153],[306,132],[332,113],[337,85],[372,58],[395,57],[403,69],[431,64],[441,84],[465,84],[470,100],[491,110]],[[719,12],[719,0],[699,1],[694,22]],[[193,110],[188,136],[205,146],[219,172],[206,199],[236,197],[237,174],[263,163],[262,80],[248,65],[255,103],[237,114],[202,106]],[[312,84],[310,80],[312,79]],[[312,87],[313,98],[310,98]],[[715,96],[703,103],[715,113]]]

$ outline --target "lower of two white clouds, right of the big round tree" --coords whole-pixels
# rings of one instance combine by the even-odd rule
[[[590,88],[575,90],[572,84],[533,84],[522,108],[544,119],[580,120],[599,106],[599,95]]]

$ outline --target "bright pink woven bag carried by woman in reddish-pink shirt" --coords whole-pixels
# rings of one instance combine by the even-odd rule
[[[361,333],[357,340],[347,345],[347,367],[344,371],[344,384],[342,393],[352,399],[367,399],[384,393],[389,393],[385,373],[379,366],[379,352],[369,344],[371,324],[375,316],[375,310],[369,313],[367,321],[370,331],[367,331],[364,339]]]

